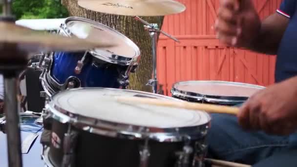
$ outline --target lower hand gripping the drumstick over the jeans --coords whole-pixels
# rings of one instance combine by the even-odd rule
[[[288,135],[297,130],[297,77],[259,91],[240,108],[239,124],[247,130]]]

